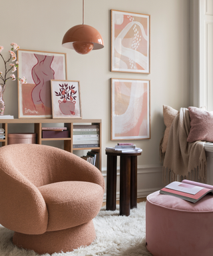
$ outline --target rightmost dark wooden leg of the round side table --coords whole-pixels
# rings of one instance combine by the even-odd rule
[[[137,207],[137,173],[137,156],[135,155],[131,157],[131,209]]]

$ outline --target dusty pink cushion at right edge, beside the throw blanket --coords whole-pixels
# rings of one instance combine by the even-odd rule
[[[190,113],[190,133],[187,141],[213,142],[213,111],[208,112],[197,107],[188,107]]]

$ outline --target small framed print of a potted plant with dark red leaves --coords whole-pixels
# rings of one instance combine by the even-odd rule
[[[79,81],[51,80],[53,118],[81,119]]]

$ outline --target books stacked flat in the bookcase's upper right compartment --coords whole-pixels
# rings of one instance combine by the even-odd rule
[[[73,148],[99,147],[99,125],[73,125]]]

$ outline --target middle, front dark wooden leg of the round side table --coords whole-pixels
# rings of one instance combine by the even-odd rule
[[[130,215],[130,165],[129,156],[120,155],[120,215]]]

